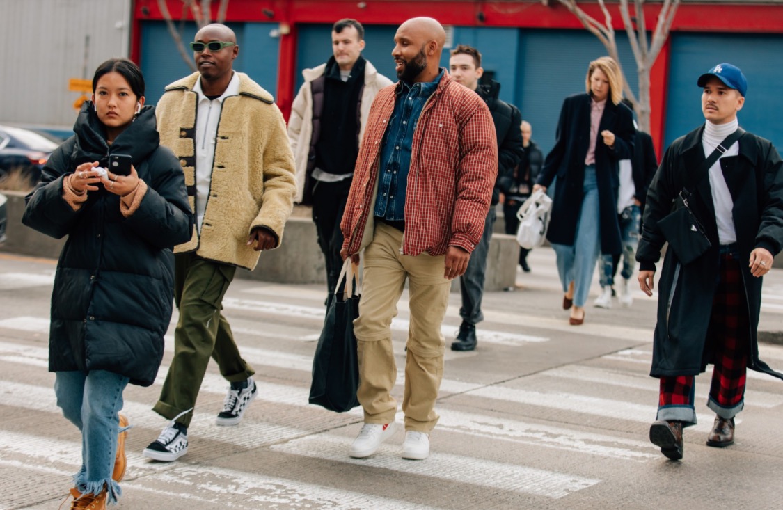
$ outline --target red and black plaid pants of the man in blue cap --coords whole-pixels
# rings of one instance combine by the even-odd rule
[[[713,298],[713,311],[705,339],[705,350],[714,365],[709,399],[718,408],[727,410],[742,404],[750,342],[748,307],[739,264],[737,257],[728,253],[720,254],[720,282]],[[693,386],[693,375],[662,377],[659,408],[693,408]]]

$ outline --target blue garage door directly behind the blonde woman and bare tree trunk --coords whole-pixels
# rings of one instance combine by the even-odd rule
[[[636,60],[626,34],[616,34],[622,70],[638,93]],[[563,99],[585,92],[587,65],[607,54],[601,41],[587,31],[521,31],[517,64],[517,98],[522,117],[532,125],[544,156],[554,145]]]

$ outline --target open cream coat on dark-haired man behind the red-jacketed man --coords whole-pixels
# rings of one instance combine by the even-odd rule
[[[291,115],[288,119],[288,139],[290,140],[291,150],[294,151],[294,160],[296,160],[296,197],[294,202],[301,202],[305,190],[305,172],[307,171],[307,160],[310,153],[310,140],[312,138],[312,90],[310,83],[316,78],[323,76],[327,64],[312,69],[305,69],[301,72],[305,77],[305,83],[299,88],[299,93],[291,106]],[[362,89],[361,106],[359,107],[359,145],[364,136],[364,127],[367,124],[367,117],[370,116],[370,106],[373,105],[373,99],[381,88],[388,87],[392,82],[383,74],[379,74],[370,61],[366,61],[364,66],[364,88]]]

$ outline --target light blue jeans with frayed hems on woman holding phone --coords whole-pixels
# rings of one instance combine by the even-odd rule
[[[63,415],[81,431],[81,469],[74,486],[81,494],[100,494],[108,488],[106,501],[117,503],[122,490],[111,478],[117,455],[117,434],[122,392],[128,378],[105,370],[56,372],[54,393]]]

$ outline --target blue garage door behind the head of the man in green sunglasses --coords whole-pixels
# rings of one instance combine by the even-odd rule
[[[234,70],[247,73],[275,95],[280,39],[271,37],[269,32],[277,27],[277,23],[229,23],[229,27],[236,33],[236,42],[240,46]],[[196,25],[189,23],[182,35],[190,58],[193,58],[193,52],[187,44],[193,41],[196,32]],[[161,99],[166,85],[193,72],[182,59],[163,21],[142,23],[141,68],[149,104]]]

